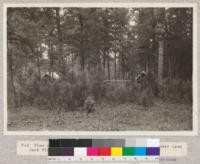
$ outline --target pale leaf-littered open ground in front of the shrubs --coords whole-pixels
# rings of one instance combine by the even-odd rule
[[[192,106],[156,100],[148,110],[134,103],[96,105],[86,111],[8,110],[8,131],[178,131],[192,130]]]

